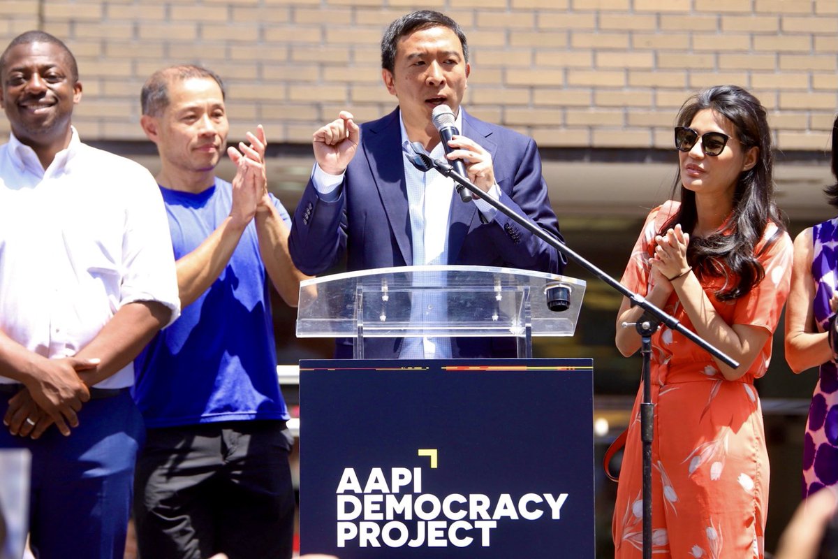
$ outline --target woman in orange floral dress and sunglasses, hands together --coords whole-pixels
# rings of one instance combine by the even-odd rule
[[[675,127],[680,203],[649,213],[622,283],[740,363],[731,369],[661,326],[652,338],[655,557],[763,557],[768,453],[753,380],[765,374],[789,293],[792,243],[773,200],[765,110],[741,88],[711,87]],[[641,310],[623,298],[617,347],[633,355]],[[613,517],[615,556],[642,556],[639,401]]]

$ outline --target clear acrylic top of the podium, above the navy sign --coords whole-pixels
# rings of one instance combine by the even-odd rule
[[[568,306],[547,306],[548,287],[566,287]],[[364,358],[365,338],[511,337],[518,357],[532,357],[534,336],[572,336],[585,282],[504,267],[410,266],[377,268],[302,282],[297,337],[354,338]]]

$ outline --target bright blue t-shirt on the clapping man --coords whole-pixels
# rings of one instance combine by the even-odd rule
[[[160,191],[175,259],[194,251],[230,215],[232,187],[221,179],[199,194]],[[290,227],[287,210],[272,200]],[[146,427],[288,419],[269,288],[251,222],[220,277],[137,356],[133,395]]]

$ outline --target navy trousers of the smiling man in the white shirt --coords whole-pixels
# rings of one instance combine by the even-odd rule
[[[8,408],[0,396],[0,416]],[[38,440],[0,426],[0,448],[32,452],[30,546],[39,559],[122,559],[137,449],[145,429],[129,391],[91,400],[79,427]]]

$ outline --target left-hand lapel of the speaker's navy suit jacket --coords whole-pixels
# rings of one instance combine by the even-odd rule
[[[370,163],[370,173],[401,257],[409,266],[413,261],[413,253],[399,110],[392,111],[365,132],[368,133],[362,136],[361,145]],[[397,264],[394,262],[394,265]]]

